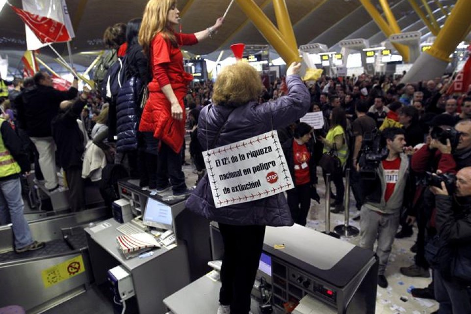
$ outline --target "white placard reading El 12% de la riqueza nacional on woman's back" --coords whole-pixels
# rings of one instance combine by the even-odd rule
[[[207,150],[203,156],[216,207],[294,188],[276,130]]]

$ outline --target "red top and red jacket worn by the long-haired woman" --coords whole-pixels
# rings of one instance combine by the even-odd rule
[[[198,43],[194,34],[175,33],[175,36],[179,46]],[[180,48],[173,47],[160,33],[152,40],[150,56],[153,79],[148,85],[149,99],[142,113],[139,131],[153,132],[155,138],[162,140],[173,151],[179,153],[185,136],[186,114],[183,97],[186,96],[187,86],[193,80],[193,76],[184,71],[183,55]],[[156,65],[163,65],[167,68],[170,85],[183,110],[183,118],[180,121],[172,118],[170,102],[157,82]]]

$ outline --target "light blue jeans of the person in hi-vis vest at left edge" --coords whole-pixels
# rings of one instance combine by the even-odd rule
[[[0,224],[6,225],[11,221],[16,249],[33,243],[23,209],[20,178],[0,181]]]

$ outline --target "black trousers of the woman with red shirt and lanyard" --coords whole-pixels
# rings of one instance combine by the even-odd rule
[[[296,185],[287,191],[288,206],[294,222],[306,226],[309,208],[311,208],[311,187],[309,183]]]

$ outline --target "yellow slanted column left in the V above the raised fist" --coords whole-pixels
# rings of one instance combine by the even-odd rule
[[[259,29],[265,39],[278,52],[287,64],[299,62],[301,57],[297,47],[290,47],[285,36],[265,16],[262,9],[253,0],[236,0],[242,11]]]

